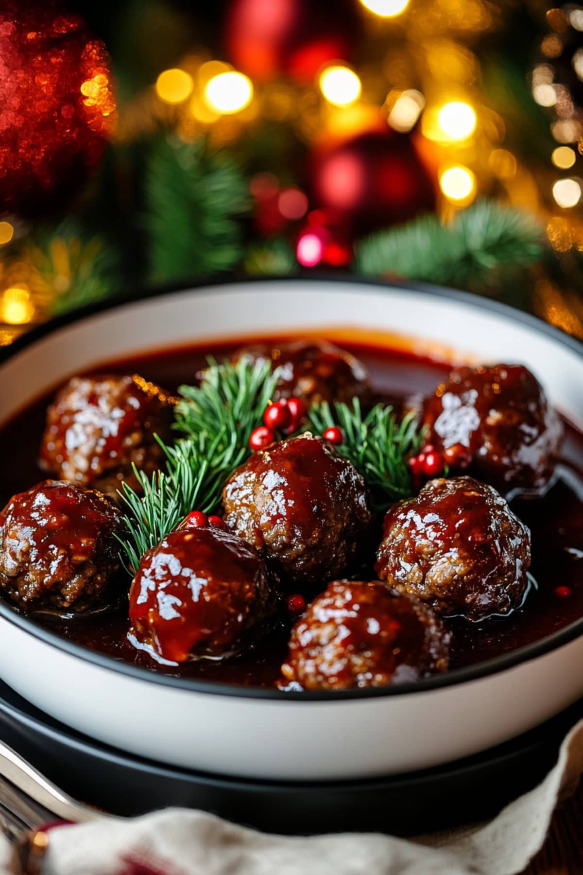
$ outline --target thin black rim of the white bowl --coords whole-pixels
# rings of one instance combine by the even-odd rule
[[[580,340],[562,332],[559,328],[556,328],[553,325],[549,325],[542,319],[531,315],[531,313],[517,310],[509,304],[503,304],[503,302],[497,301],[493,298],[481,297],[467,291],[450,289],[445,286],[434,285],[431,283],[416,283],[408,280],[384,280],[344,274],[337,275],[333,273],[323,273],[318,274],[317,276],[312,276],[305,272],[300,272],[294,276],[258,276],[242,278],[232,276],[222,279],[185,280],[182,283],[159,285],[156,288],[149,290],[138,290],[137,292],[133,290],[126,295],[116,297],[115,300],[104,300],[97,304],[90,304],[79,310],[65,313],[43,325],[38,325],[30,332],[17,338],[12,344],[10,344],[10,346],[5,346],[0,349],[0,366],[17,355],[17,353],[20,353],[28,346],[36,343],[37,340],[58,331],[59,328],[66,325],[72,325],[75,322],[80,322],[85,318],[89,318],[103,311],[116,310],[127,304],[138,303],[156,297],[163,297],[172,293],[192,294],[209,288],[218,287],[228,290],[233,286],[257,285],[259,287],[263,286],[263,290],[266,290],[269,286],[275,284],[283,288],[287,283],[302,283],[304,280],[309,281],[310,283],[322,283],[323,290],[330,292],[334,290],[336,283],[343,283],[344,285],[362,285],[367,287],[367,290],[376,290],[379,294],[383,295],[390,294],[392,290],[411,290],[420,292],[428,297],[445,297],[472,308],[495,312],[504,318],[510,319],[510,321],[522,323],[540,334],[551,337],[562,346],[571,349],[574,353],[577,353],[583,361],[583,343],[580,342]],[[524,662],[530,662],[533,659],[537,659],[540,656],[563,647],[583,634],[583,617],[581,617],[579,620],[575,620],[565,628],[559,629],[558,632],[547,635],[539,641],[533,641],[531,644],[525,645],[522,648],[512,650],[508,654],[496,656],[492,659],[478,662],[475,665],[470,665],[465,668],[454,669],[443,675],[422,678],[419,681],[412,683],[357,690],[283,691],[277,690],[276,688],[245,687],[237,686],[233,683],[200,681],[188,677],[169,676],[162,672],[157,672],[156,669],[147,669],[129,662],[116,660],[112,656],[99,653],[80,644],[75,644],[73,641],[69,641],[63,636],[53,633],[48,629],[45,629],[45,627],[39,626],[33,620],[29,620],[24,614],[18,613],[15,608],[7,605],[2,600],[0,600],[0,618],[7,620],[26,634],[31,634],[45,644],[65,652],[67,655],[72,655],[81,660],[85,660],[86,662],[91,662],[101,669],[115,671],[121,675],[135,678],[135,680],[138,681],[157,683],[175,690],[184,690],[191,693],[231,696],[246,699],[262,699],[280,704],[285,701],[333,702],[342,699],[358,700],[385,696],[403,696],[422,693],[426,690],[440,690],[441,688],[454,687],[461,683],[468,683],[484,677],[494,676],[499,672],[512,669]]]

